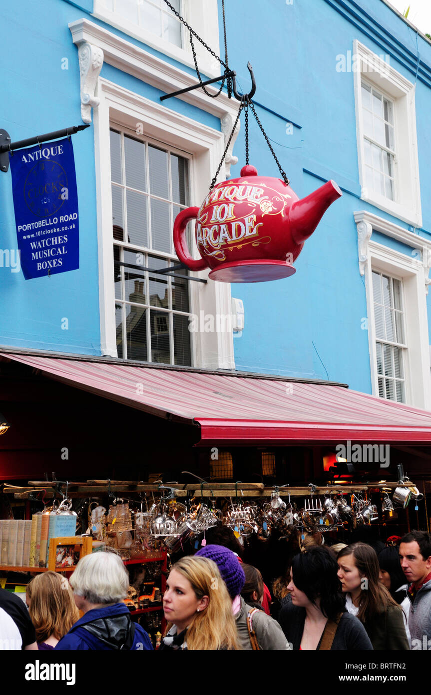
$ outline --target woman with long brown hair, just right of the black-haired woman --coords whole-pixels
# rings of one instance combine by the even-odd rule
[[[341,550],[337,562],[346,608],[364,625],[373,649],[408,650],[403,611],[379,582],[375,550],[366,543],[353,543]]]

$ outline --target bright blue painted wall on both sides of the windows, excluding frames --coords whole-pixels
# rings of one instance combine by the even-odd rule
[[[219,2],[221,36],[221,2]],[[92,0],[21,0],[3,8],[3,61],[0,125],[20,140],[81,123],[77,49],[68,24],[87,16],[109,31],[139,41],[90,15]],[[246,327],[235,338],[239,370],[313,377],[348,383],[371,392],[364,279],[357,261],[353,212],[373,211],[408,228],[360,201],[353,73],[337,72],[337,55],[352,51],[353,40],[375,54],[389,54],[391,65],[416,81],[416,122],[419,147],[423,229],[431,234],[431,45],[380,0],[226,0],[230,67],[239,89],[250,85],[246,70],[255,72],[257,112],[276,154],[303,197],[334,178],[344,195],[328,209],[296,261],[296,275],[271,283],[233,285],[244,301]],[[222,37],[221,37],[222,39]],[[151,47],[145,47],[158,54]],[[421,66],[416,79],[417,49]],[[223,55],[222,42],[220,55]],[[160,54],[159,54],[160,55]],[[169,63],[192,73],[185,65]],[[62,70],[62,58],[68,70]],[[427,67],[428,66],[428,67]],[[101,75],[158,101],[160,92],[104,64]],[[184,101],[169,108],[220,129],[219,120]],[[289,134],[289,123],[293,129]],[[251,117],[250,159],[260,173],[278,176],[276,163]],[[24,280],[22,273],[0,268],[2,311],[0,345],[40,350],[100,354],[99,279],[96,233],[96,187],[92,128],[74,136],[80,206],[81,267],[51,278]],[[244,124],[234,154],[244,163]],[[418,231],[418,230],[416,230]],[[0,235],[3,249],[16,247],[10,173],[0,175]],[[403,250],[384,235],[379,243]],[[405,247],[403,252],[411,250]],[[428,297],[431,316],[431,295]],[[69,329],[62,329],[68,318]],[[431,342],[431,341],[430,341]]]

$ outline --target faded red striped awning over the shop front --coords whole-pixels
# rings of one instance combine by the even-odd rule
[[[163,418],[199,425],[201,445],[431,442],[431,412],[350,391],[255,375],[1,352],[52,379]]]

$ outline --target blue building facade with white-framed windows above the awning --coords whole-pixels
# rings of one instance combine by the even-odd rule
[[[221,1],[171,4],[224,59]],[[26,280],[6,262],[17,234],[1,176],[1,346],[330,380],[431,409],[430,42],[384,0],[225,6],[229,67],[246,92],[253,65],[291,188],[343,191],[296,274],[228,285],[144,270],[176,262],[174,218],[207,195],[239,103],[226,85],[160,101],[196,83],[189,33],[162,0],[26,0],[6,9],[1,127],[12,141],[91,127],[73,138],[78,270]],[[220,75],[194,44],[201,74]],[[241,117],[219,180],[239,177],[244,147]],[[250,161],[278,176],[253,118]],[[232,298],[242,332],[218,320]]]

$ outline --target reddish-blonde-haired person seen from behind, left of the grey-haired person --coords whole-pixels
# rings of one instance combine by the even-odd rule
[[[26,589],[26,602],[39,649],[53,649],[79,618],[74,594],[65,577],[44,572]]]

